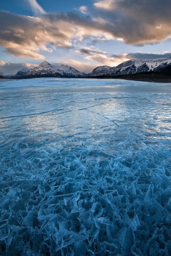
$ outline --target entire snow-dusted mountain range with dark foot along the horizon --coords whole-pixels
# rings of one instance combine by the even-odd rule
[[[77,69],[64,64],[52,65],[45,60],[29,71],[27,69],[19,70],[16,75],[10,78],[39,77],[144,79],[143,81],[154,82],[163,79],[163,81],[171,82],[171,57],[144,60],[131,59],[115,67],[99,66],[89,74],[79,72]]]

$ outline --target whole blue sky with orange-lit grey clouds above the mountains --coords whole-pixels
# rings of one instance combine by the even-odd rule
[[[171,0],[1,0],[0,73],[171,56]]]

